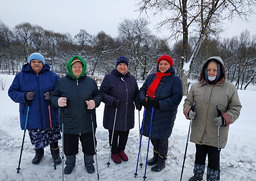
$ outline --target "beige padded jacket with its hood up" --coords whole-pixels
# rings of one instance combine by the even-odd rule
[[[209,59],[220,62],[222,76],[215,85],[210,85],[204,80],[204,70]],[[198,82],[192,84],[189,94],[183,105],[183,112],[187,119],[187,112],[194,101],[194,120],[191,124],[190,141],[195,144],[204,144],[218,147],[218,126],[214,123],[214,118],[218,116],[216,106],[219,105],[225,126],[220,126],[220,148],[224,148],[228,141],[229,125],[234,123],[239,117],[242,105],[239,101],[237,90],[234,84],[225,80],[225,69],[220,57],[210,57],[201,70]]]

